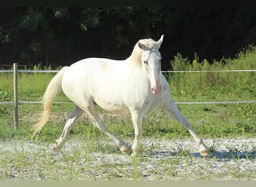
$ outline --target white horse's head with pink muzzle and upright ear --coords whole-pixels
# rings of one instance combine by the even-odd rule
[[[162,44],[163,35],[158,41],[152,39],[138,40],[138,47],[143,50],[141,54],[141,64],[150,81],[150,90],[153,94],[160,93],[161,78],[161,54],[159,48]]]

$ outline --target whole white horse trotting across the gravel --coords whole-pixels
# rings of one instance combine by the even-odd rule
[[[169,84],[161,72],[162,58],[159,48],[162,40],[163,35],[158,41],[138,40],[132,55],[124,61],[86,58],[70,67],[63,67],[49,82],[43,95],[43,115],[40,122],[33,126],[34,135],[40,132],[48,121],[52,103],[62,89],[76,106],[64,126],[61,137],[53,145],[53,150],[59,150],[64,145],[70,129],[79,116],[86,112],[93,120],[94,126],[112,138],[115,144],[121,147],[122,153],[136,156],[144,115],[156,108],[163,108],[190,132],[199,146],[199,153],[209,156],[209,149],[171,99]],[[132,150],[109,132],[100,119],[95,104],[106,111],[130,112],[135,129]]]

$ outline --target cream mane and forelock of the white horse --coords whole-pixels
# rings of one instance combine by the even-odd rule
[[[150,49],[159,49],[159,45],[155,40],[152,39],[142,39],[138,40],[139,43],[144,44],[144,46],[147,46],[147,48]],[[127,58],[130,63],[140,66],[141,65],[141,54],[144,51],[143,49],[138,47],[138,42],[135,44],[132,54]]]

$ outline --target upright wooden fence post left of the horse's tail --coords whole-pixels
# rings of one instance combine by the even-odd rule
[[[18,120],[18,66],[13,63],[13,107],[14,107],[14,129],[19,128]]]

